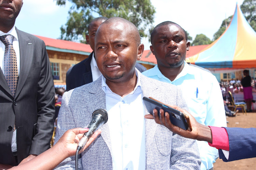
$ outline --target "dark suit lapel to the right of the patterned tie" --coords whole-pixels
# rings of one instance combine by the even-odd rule
[[[18,84],[16,89],[16,95],[20,93],[22,87],[24,86],[28,73],[32,63],[34,40],[30,40],[23,32],[16,29],[18,40],[19,40],[19,56],[20,56],[20,71]]]

